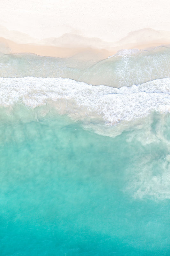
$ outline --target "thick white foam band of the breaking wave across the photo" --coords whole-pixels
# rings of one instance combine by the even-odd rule
[[[170,78],[119,89],[64,78],[0,78],[2,106],[35,108],[49,101],[77,120],[96,115],[108,126],[126,124],[153,111],[170,112]]]

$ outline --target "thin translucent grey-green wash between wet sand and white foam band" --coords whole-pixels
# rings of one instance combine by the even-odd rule
[[[121,50],[105,60],[1,54],[2,77],[63,77],[92,85],[120,88],[169,77],[170,48]]]

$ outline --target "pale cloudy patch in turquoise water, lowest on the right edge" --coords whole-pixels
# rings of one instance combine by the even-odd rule
[[[165,148],[167,152],[170,149],[167,140]],[[140,162],[127,170],[129,180],[125,191],[129,191],[134,198],[170,199],[169,155],[154,158],[152,154],[148,154],[140,158]]]

